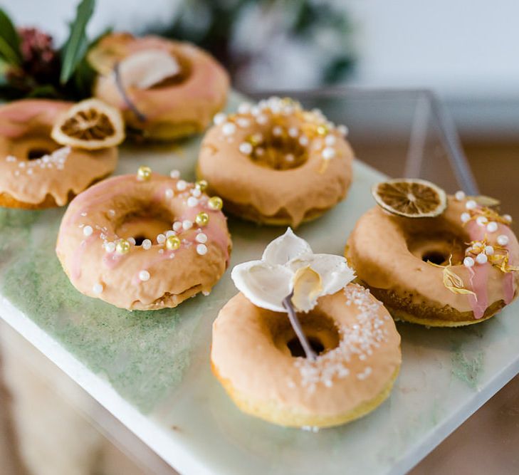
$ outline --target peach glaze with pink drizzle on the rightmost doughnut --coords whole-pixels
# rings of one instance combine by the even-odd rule
[[[450,306],[461,313],[472,311],[476,319],[492,303],[500,300],[510,303],[519,283],[517,272],[503,273],[491,263],[476,263],[472,268],[452,266],[451,270],[463,279],[464,286],[476,293],[476,297],[459,295],[445,288],[441,268],[431,266],[409,251],[406,234],[411,236],[409,240],[424,241],[435,233],[461,236],[465,242],[487,236],[490,244],[495,244],[500,234],[506,234],[509,263],[517,265],[519,244],[508,226],[498,224],[498,231],[493,233],[475,221],[463,226],[460,218],[463,212],[466,212],[465,200],[456,201],[453,197],[449,197],[445,212],[436,218],[409,219],[389,215],[379,207],[369,210],[357,221],[348,240],[347,254],[357,276],[374,288],[393,290],[399,295],[412,293],[413,303],[437,308]]]

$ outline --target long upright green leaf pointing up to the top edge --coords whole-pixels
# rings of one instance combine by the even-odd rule
[[[85,30],[92,16],[95,0],[83,0],[78,5],[73,24],[70,25],[70,35],[62,51],[60,83],[65,84],[75,68],[84,58],[88,48],[88,38]]]

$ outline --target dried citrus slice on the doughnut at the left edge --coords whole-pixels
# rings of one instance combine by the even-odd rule
[[[101,100],[87,99],[58,119],[51,137],[61,145],[98,150],[115,147],[125,140],[125,126],[119,110]]]

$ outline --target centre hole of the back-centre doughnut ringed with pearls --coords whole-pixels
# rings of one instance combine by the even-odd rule
[[[288,170],[304,165],[308,160],[306,147],[300,145],[297,137],[290,137],[285,127],[281,135],[274,134],[274,128],[263,135],[263,140],[253,147],[251,160],[261,167]]]

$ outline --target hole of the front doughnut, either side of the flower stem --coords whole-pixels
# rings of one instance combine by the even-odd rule
[[[339,331],[332,318],[317,309],[300,313],[298,318],[310,346],[318,355],[337,348],[340,342]],[[274,345],[285,355],[305,357],[305,352],[297,335],[290,325],[288,315],[276,313],[268,322]]]

